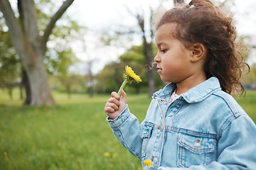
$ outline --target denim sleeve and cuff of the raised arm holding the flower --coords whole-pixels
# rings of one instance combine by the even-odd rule
[[[107,121],[117,140],[135,157],[142,159],[142,125],[139,120],[129,112],[128,106],[117,118]]]

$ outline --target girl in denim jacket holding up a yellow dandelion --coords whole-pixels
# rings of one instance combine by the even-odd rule
[[[164,13],[154,61],[171,83],[154,94],[141,125],[124,91],[105,106],[115,137],[143,169],[256,169],[255,123],[230,96],[245,91],[235,37],[232,17],[208,0]]]

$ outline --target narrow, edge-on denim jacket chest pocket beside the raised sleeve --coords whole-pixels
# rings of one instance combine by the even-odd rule
[[[144,125],[142,132],[142,160],[146,157],[146,147],[149,142],[149,137],[151,137],[153,127],[149,125]]]

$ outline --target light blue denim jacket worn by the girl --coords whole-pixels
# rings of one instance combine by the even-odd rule
[[[170,105],[176,84],[152,97],[141,124],[129,108],[107,118],[117,140],[151,169],[256,169],[256,127],[212,77]]]

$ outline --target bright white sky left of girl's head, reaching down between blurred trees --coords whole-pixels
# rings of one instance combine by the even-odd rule
[[[131,16],[127,8],[132,12],[142,8],[146,11],[148,5],[146,6],[145,4],[151,4],[151,6],[158,5],[156,0],[140,0],[139,2],[140,4],[135,0],[94,0],[89,2],[75,0],[68,9],[68,16],[75,18],[79,24],[89,29],[87,35],[85,35],[86,51],[82,50],[80,45],[75,45],[73,50],[82,61],[86,62],[95,59],[95,62],[92,62],[93,74],[100,72],[105,64],[117,61],[118,57],[130,46],[141,44],[141,40],[138,40],[140,38],[134,37],[134,42],[125,42],[126,40],[123,40],[116,45],[117,47],[99,45],[100,32],[116,28],[117,26],[137,26],[137,20]],[[122,45],[124,43],[125,45]],[[80,69],[85,65],[80,66]]]

